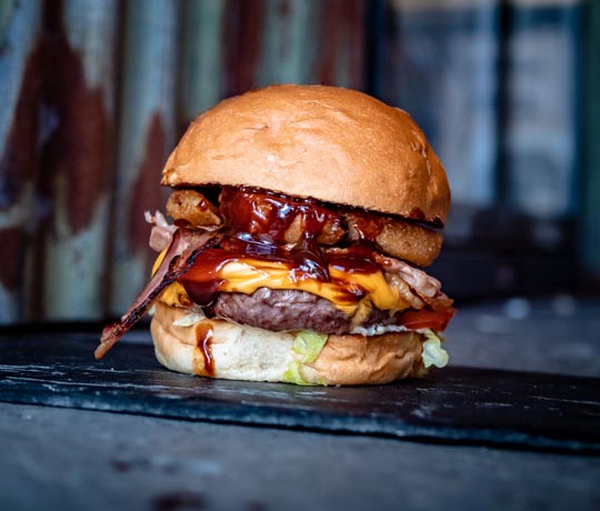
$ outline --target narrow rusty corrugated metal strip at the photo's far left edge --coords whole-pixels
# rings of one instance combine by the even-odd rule
[[[37,222],[41,2],[0,3],[0,323],[23,319]]]

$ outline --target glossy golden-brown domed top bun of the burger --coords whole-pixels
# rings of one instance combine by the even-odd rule
[[[162,184],[253,187],[443,226],[450,189],[403,110],[349,89],[271,86],[188,128]]]

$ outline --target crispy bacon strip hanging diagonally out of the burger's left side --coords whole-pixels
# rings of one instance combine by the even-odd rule
[[[102,330],[100,345],[93,353],[96,359],[101,359],[150,310],[161,292],[178,277],[186,273],[200,253],[216,246],[220,239],[221,234],[214,232],[177,229],[171,244],[150,282],[121,319]]]

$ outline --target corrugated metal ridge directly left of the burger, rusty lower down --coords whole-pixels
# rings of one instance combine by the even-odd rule
[[[111,311],[122,313],[143,288],[156,254],[144,211],[162,209],[159,181],[174,143],[179,2],[127,3],[114,200]]]

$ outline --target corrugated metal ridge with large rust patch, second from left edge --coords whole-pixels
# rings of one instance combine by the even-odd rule
[[[38,314],[94,319],[102,310],[114,117],[116,0],[46,4],[44,229]]]

